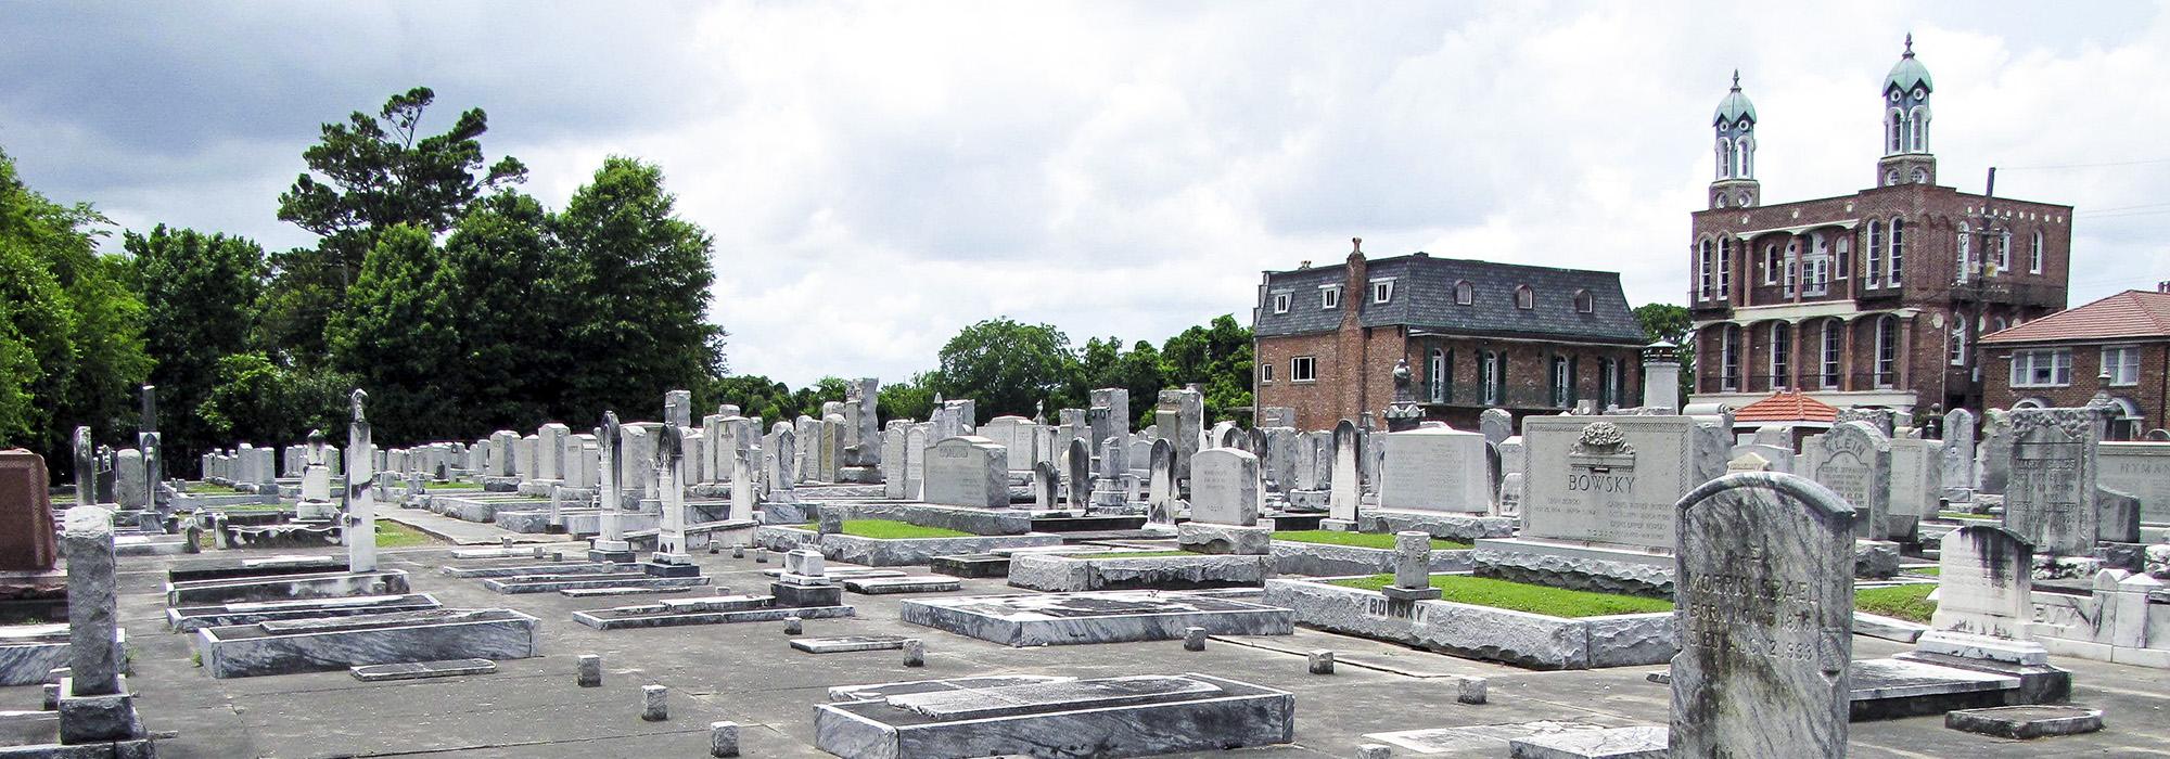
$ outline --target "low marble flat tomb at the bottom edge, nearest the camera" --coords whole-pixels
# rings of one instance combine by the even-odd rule
[[[1146,757],[1272,746],[1293,739],[1295,696],[1250,683],[1185,674],[1213,692],[1183,700],[1007,713],[979,720],[933,720],[890,700],[814,707],[816,746],[840,757]],[[1092,681],[1009,685],[1061,687]],[[946,696],[955,696],[950,692]],[[898,698],[898,696],[892,696]],[[990,698],[1013,700],[1003,687]]]

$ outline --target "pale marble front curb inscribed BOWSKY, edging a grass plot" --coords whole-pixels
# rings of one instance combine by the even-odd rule
[[[1671,614],[1571,620],[1452,601],[1391,601],[1300,579],[1267,581],[1265,603],[1293,609],[1309,627],[1534,670],[1660,664],[1673,655]]]

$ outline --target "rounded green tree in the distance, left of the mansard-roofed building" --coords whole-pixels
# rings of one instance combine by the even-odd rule
[[[1055,397],[1068,380],[1070,338],[1050,325],[987,319],[942,345],[942,395],[974,399],[979,423]]]

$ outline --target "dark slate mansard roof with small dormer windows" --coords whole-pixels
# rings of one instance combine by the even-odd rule
[[[1252,330],[1259,336],[1332,332],[1345,308],[1365,327],[1406,325],[1469,336],[1526,336],[1575,343],[1643,345],[1647,336],[1628,308],[1614,271],[1502,265],[1471,258],[1410,254],[1367,262],[1371,280],[1393,278],[1393,299],[1371,304],[1369,284],[1341,293],[1341,308],[1319,308],[1319,286],[1348,280],[1348,265],[1267,271],[1265,297]],[[1471,306],[1454,304],[1456,282],[1476,288]],[[1536,308],[1515,308],[1515,288],[1528,284]],[[1591,293],[1591,312],[1575,312],[1575,293]],[[1274,293],[1293,293],[1289,312],[1274,312]]]

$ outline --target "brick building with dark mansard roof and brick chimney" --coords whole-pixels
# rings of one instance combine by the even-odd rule
[[[1554,414],[1641,403],[1643,327],[1619,275],[1489,260],[1367,260],[1267,271],[1252,308],[1259,406],[1330,429],[1393,401],[1406,360],[1426,419],[1476,429],[1484,408]]]

